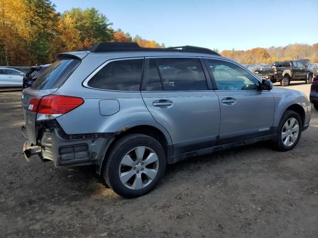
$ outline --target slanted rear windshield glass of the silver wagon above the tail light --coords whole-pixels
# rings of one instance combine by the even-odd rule
[[[79,66],[78,59],[61,59],[52,63],[32,84],[34,89],[58,88]]]

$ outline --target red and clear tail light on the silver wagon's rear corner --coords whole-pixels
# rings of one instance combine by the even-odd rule
[[[37,120],[54,119],[66,114],[84,103],[82,98],[48,95],[30,101],[28,111],[37,113]]]

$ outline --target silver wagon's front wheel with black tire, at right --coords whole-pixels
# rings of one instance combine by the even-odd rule
[[[286,111],[278,126],[277,141],[274,148],[278,151],[293,149],[302,134],[303,122],[298,113]]]

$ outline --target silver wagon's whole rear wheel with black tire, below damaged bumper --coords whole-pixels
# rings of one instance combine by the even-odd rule
[[[134,198],[149,193],[163,177],[165,152],[154,138],[134,133],[115,142],[103,177],[118,195]]]

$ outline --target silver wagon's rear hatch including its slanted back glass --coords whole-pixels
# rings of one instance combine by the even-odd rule
[[[34,98],[52,94],[69,78],[78,67],[80,59],[70,55],[61,55],[32,84],[22,91],[22,110],[25,119],[26,134],[30,143],[36,145],[39,128],[36,124],[36,112],[28,110],[30,101]],[[30,108],[29,108],[30,109]]]

